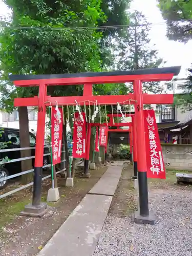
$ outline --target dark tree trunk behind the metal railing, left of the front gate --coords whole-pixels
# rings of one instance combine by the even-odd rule
[[[28,119],[27,106],[19,106],[18,116],[19,116],[20,147],[30,147],[29,119]],[[20,157],[22,158],[31,157],[31,150],[20,151]],[[32,159],[22,161],[22,172],[30,169],[33,169]],[[22,184],[27,184],[32,180],[33,180],[33,173],[22,175]]]

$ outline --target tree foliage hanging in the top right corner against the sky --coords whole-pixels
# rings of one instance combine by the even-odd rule
[[[167,21],[170,40],[187,42],[192,38],[192,0],[158,0],[159,9]]]

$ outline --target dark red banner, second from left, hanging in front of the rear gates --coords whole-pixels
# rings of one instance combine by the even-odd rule
[[[75,113],[73,131],[73,157],[86,158],[86,114],[82,112],[83,121],[78,112]]]

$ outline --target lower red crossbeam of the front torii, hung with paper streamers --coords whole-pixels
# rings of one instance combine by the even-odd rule
[[[130,101],[130,104],[134,104],[134,94],[127,94],[127,95],[99,95],[99,96],[68,96],[68,97],[51,97],[47,96],[45,100],[45,104],[47,106],[56,105],[56,102],[59,105],[72,105],[75,104],[75,100],[80,104],[93,104],[96,102],[102,105],[116,105],[117,102],[125,102],[128,100],[133,99]],[[143,94],[143,103],[144,104],[173,104],[174,102],[174,95],[173,94]],[[14,106],[37,106],[38,105],[38,98],[16,98],[14,99]]]

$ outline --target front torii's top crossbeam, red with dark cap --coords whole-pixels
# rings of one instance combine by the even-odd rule
[[[140,69],[129,71],[112,72],[86,72],[77,74],[56,74],[56,75],[10,75],[15,86],[28,87],[38,86],[39,83],[47,86],[85,84],[85,83],[118,83],[133,82],[134,80],[168,81],[174,75],[178,75],[181,67]]]

